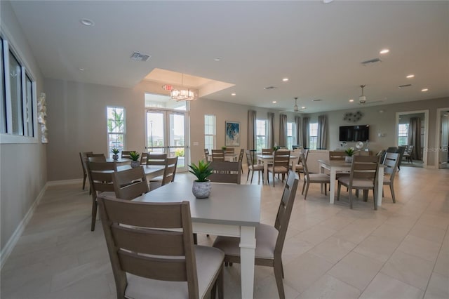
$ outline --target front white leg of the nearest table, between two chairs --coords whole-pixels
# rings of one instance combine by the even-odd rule
[[[241,298],[253,298],[255,227],[240,227]]]

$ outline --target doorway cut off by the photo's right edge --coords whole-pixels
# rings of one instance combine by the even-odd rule
[[[436,161],[438,168],[449,169],[448,143],[449,143],[449,107],[436,110]]]

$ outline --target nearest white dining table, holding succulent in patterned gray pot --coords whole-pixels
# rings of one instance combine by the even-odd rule
[[[133,200],[189,201],[194,232],[240,238],[241,298],[253,298],[255,227],[260,224],[260,185],[212,183],[210,197],[196,199],[192,194],[192,181],[171,182]],[[99,196],[115,198],[115,193],[103,192]]]

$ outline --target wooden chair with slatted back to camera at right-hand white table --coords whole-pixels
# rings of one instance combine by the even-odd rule
[[[376,179],[377,168],[380,157],[354,155],[351,164],[350,175],[338,178],[337,200],[340,200],[342,185],[349,191],[349,207],[352,208],[352,190],[363,190],[363,199],[368,200],[368,190],[373,190],[374,209],[377,210],[376,202]]]

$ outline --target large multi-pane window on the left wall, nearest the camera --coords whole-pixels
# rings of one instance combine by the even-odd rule
[[[36,135],[36,84],[16,53],[1,37],[0,133],[5,134],[4,143],[29,142],[20,136]]]

